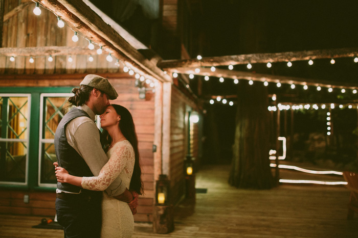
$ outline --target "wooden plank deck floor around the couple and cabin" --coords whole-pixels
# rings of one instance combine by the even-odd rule
[[[133,237],[358,237],[358,214],[348,221],[349,192],[342,186],[281,185],[266,191],[227,184],[229,166],[208,166],[196,177],[196,204],[175,207],[175,230],[154,234],[136,223]],[[340,179],[339,179],[340,180]],[[341,179],[342,180],[342,179]],[[0,237],[63,237],[31,228],[38,217],[0,215]]]

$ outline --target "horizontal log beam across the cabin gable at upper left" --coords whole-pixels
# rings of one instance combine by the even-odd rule
[[[0,48],[0,56],[69,56],[69,55],[96,55],[96,50],[85,46],[41,46]]]

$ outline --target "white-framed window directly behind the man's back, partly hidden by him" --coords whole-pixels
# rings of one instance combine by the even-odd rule
[[[39,170],[40,187],[56,187],[57,179],[53,163],[57,161],[55,154],[55,132],[58,123],[70,109],[67,99],[70,93],[42,93],[40,96],[40,132],[39,132]]]

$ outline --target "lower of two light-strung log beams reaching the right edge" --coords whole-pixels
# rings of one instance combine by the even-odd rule
[[[332,82],[327,80],[316,80],[311,78],[251,73],[251,72],[235,71],[229,69],[216,69],[215,72],[212,72],[210,68],[201,68],[200,72],[197,73],[195,72],[195,68],[175,68],[170,70],[170,72],[184,73],[184,74],[192,73],[192,74],[203,75],[203,76],[208,75],[214,77],[232,78],[233,80],[244,79],[244,80],[253,80],[259,82],[267,81],[269,83],[321,86],[321,87],[328,87],[328,88],[348,87],[352,89],[358,89],[357,83]]]

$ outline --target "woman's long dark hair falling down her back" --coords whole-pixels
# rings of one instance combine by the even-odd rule
[[[121,120],[119,122],[119,128],[122,131],[123,136],[130,142],[134,151],[135,151],[135,166],[133,169],[132,178],[130,179],[129,188],[131,191],[136,191],[138,194],[143,194],[143,181],[141,178],[141,167],[139,164],[139,151],[138,151],[138,137],[136,133],[136,127],[133,122],[132,115],[125,107],[118,104],[111,104],[111,106],[116,110],[117,114],[121,116]],[[112,139],[108,135],[106,130],[103,131],[103,137],[105,139],[106,147],[112,142]]]

